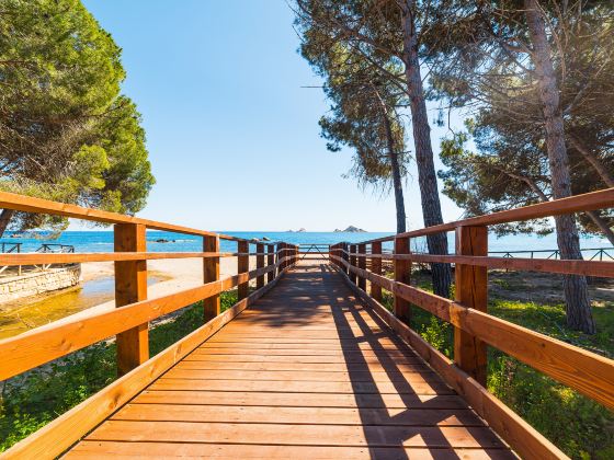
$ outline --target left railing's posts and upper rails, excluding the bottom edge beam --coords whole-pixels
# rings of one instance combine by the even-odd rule
[[[0,367],[0,379],[13,377],[113,335],[117,335],[118,340],[120,372],[125,373],[149,357],[147,348],[147,323],[149,321],[200,300],[216,299],[220,292],[234,287],[239,288],[239,300],[241,300],[248,296],[250,279],[258,278],[260,280],[259,288],[262,289],[264,275],[271,272],[277,273],[282,268],[294,265],[298,251],[298,246],[293,244],[269,242],[269,250],[264,252],[262,243],[242,238],[5,192],[0,192],[0,207],[115,225],[114,253],[2,254],[0,264],[19,266],[45,263],[115,262],[115,272],[118,275],[115,280],[116,309],[86,318],[80,317],[79,319],[52,323],[15,337],[0,341],[0,356],[2,356],[3,364]],[[201,235],[204,241],[204,251],[146,252],[146,228]],[[213,241],[219,239],[236,241],[238,251],[219,252],[219,244],[213,244]],[[250,252],[250,244],[257,244],[258,252]],[[269,263],[266,266],[259,263],[255,271],[249,272],[249,257],[251,255],[255,255],[259,261],[262,261],[263,256],[266,255],[269,262],[271,262],[271,245],[277,248],[276,262]],[[273,252],[275,252],[274,246]],[[239,258],[239,274],[219,279],[219,269],[215,261],[231,256]],[[203,286],[146,300],[146,261],[193,257],[204,261],[205,281]],[[269,280],[272,279],[274,277],[269,277]],[[208,312],[205,313],[205,318],[212,311],[215,314],[219,313],[218,299],[214,302],[217,308],[213,308],[209,300],[205,302],[205,310]],[[143,333],[138,331],[143,331]]]

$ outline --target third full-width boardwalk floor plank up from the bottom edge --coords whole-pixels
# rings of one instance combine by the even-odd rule
[[[280,407],[252,405],[127,404],[112,421],[278,423],[312,425],[485,426],[470,410]]]

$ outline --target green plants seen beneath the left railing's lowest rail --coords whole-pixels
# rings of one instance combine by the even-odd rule
[[[221,294],[221,310],[236,303],[237,292]],[[203,324],[202,302],[186,307],[151,327],[151,356]],[[2,383],[0,451],[84,401],[116,378],[115,344],[100,343]]]

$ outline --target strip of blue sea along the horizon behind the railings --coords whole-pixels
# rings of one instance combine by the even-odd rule
[[[240,237],[248,240],[269,238],[271,241],[285,241],[288,243],[304,244],[333,244],[338,242],[357,243],[375,238],[387,237],[390,233],[366,232],[276,232],[276,231],[223,231],[221,233]],[[168,243],[159,243],[156,240],[168,240]],[[454,233],[448,233],[450,250],[454,251]],[[104,231],[65,231],[59,238],[50,239],[45,233],[25,233],[20,238],[11,238],[10,233],[0,240],[5,243],[22,243],[22,252],[33,252],[43,243],[59,243],[75,246],[76,252],[112,252],[113,251],[113,232]],[[592,250],[599,248],[611,248],[607,240],[599,238],[581,238],[580,244],[582,249]],[[234,241],[221,241],[223,252],[234,252],[237,243]],[[427,243],[423,238],[413,239],[412,246],[414,252],[427,252]],[[489,251],[492,253],[507,251],[541,251],[556,250],[556,237],[549,234],[546,237],[537,237],[532,234],[507,235],[497,238],[491,234],[489,238]],[[384,250],[390,250],[391,243],[385,243]],[[202,238],[190,234],[172,233],[163,231],[147,231],[147,250],[150,252],[197,252],[202,251]],[[584,256],[590,257],[594,251],[587,251]],[[497,255],[497,254],[493,254]],[[514,254],[515,255],[515,254]],[[528,256],[527,254],[518,254],[519,256]],[[535,256],[541,256],[539,253]],[[547,254],[542,255],[547,256]]]

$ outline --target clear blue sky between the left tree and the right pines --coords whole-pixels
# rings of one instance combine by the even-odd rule
[[[123,48],[124,92],[143,114],[157,184],[139,216],[212,230],[394,231],[393,198],[343,179],[351,152],[319,137],[329,104],[300,88],[321,82],[296,53],[285,1],[84,3]],[[433,130],[435,148],[444,134]],[[405,195],[409,227],[422,227],[414,169]],[[442,199],[444,219],[459,217]]]

